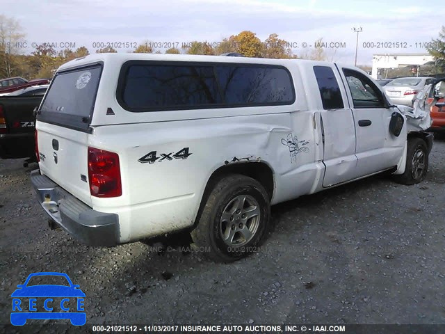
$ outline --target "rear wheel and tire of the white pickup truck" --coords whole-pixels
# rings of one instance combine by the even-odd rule
[[[227,175],[207,198],[191,236],[211,260],[233,262],[259,250],[270,231],[270,200],[251,177]]]

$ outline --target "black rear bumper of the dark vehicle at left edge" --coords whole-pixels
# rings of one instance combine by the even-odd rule
[[[19,159],[34,155],[34,134],[0,134],[0,158]]]

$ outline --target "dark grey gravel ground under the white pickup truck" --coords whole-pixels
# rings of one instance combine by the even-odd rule
[[[87,324],[445,324],[445,136],[425,182],[377,176],[277,205],[275,232],[233,264],[49,230],[29,182],[36,165],[22,164],[0,160],[0,324],[36,271],[81,286]]]

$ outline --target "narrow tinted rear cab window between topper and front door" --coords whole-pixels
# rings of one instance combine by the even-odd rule
[[[332,68],[329,66],[314,66],[314,74],[320,90],[323,109],[343,109],[344,104],[339,83]]]

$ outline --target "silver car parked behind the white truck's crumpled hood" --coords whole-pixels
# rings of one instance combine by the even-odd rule
[[[397,78],[385,85],[383,90],[392,103],[412,106],[413,97],[435,80],[431,77]]]

